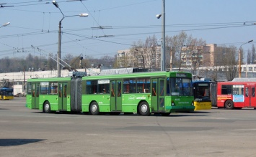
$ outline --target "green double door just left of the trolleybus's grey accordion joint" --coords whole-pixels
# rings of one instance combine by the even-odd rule
[[[67,83],[58,83],[58,110],[66,110]]]

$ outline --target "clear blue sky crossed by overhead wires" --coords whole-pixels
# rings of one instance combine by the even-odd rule
[[[51,0],[0,0],[0,26],[10,22],[0,28],[0,58],[57,54],[62,18],[61,58],[114,57],[147,37],[161,41],[156,14],[162,14],[163,0],[56,1],[64,18]],[[185,31],[207,44],[243,44],[247,51],[256,42],[255,7],[255,0],[165,0],[166,35]],[[77,16],[82,13],[89,16]]]

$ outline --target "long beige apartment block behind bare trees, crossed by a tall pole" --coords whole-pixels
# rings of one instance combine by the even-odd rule
[[[165,67],[166,70],[175,68],[175,61],[180,61],[182,68],[197,69],[198,67],[215,67],[221,66],[220,59],[224,53],[221,49],[227,47],[218,47],[217,44],[206,44],[202,46],[182,46],[166,47],[165,50]],[[226,51],[226,50],[225,50]],[[174,57],[174,54],[176,56]],[[172,57],[171,57],[172,55]],[[172,60],[173,58],[173,60]],[[161,69],[161,46],[137,49],[118,50],[117,54],[118,67],[139,67],[149,70]]]

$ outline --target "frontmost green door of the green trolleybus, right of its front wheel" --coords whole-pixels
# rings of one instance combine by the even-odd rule
[[[151,81],[151,110],[154,112],[165,112],[164,106],[164,79],[153,79]]]

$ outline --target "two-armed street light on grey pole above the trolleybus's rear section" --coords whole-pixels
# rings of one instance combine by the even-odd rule
[[[60,11],[60,7],[58,6],[57,1],[53,1],[53,5],[56,6]],[[58,77],[61,77],[61,22],[65,17],[71,17],[71,16],[80,16],[80,17],[87,17],[87,13],[79,14],[79,15],[71,15],[71,16],[64,16],[63,12],[61,11],[61,14],[63,15],[60,22],[58,22],[58,55],[57,55],[57,70],[58,70]]]

